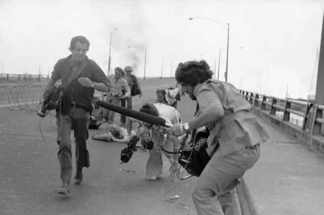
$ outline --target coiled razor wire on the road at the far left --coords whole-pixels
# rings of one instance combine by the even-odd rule
[[[44,84],[0,85],[0,108],[38,111]]]

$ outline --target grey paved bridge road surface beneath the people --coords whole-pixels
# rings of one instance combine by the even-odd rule
[[[135,110],[153,100],[156,89],[162,87],[157,85],[157,82],[148,85],[144,97],[134,99]],[[178,110],[185,121],[189,120],[195,103],[187,96],[182,97]],[[124,146],[117,143],[88,140],[91,167],[84,171],[84,182],[80,186],[71,185],[70,194],[62,197],[56,193],[60,183],[53,115],[42,121],[45,143],[34,112],[1,109],[0,117],[2,215],[196,214],[190,195],[196,178],[179,183],[162,198],[169,165],[165,165],[161,180],[148,182],[145,179],[148,153],[139,150],[128,164],[120,165],[119,155]],[[116,121],[119,122],[119,114]],[[259,162],[245,176],[260,214],[321,214],[324,158],[262,123],[272,138],[262,145]],[[99,132],[104,132],[105,126]],[[90,131],[90,135],[94,132],[98,131]],[[169,197],[176,194],[181,198],[170,201]]]

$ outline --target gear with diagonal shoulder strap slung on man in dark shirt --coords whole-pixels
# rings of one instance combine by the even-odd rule
[[[42,107],[42,111],[46,112],[47,110],[55,110],[60,109],[62,105],[62,101],[64,99],[64,93],[67,86],[78,77],[78,75],[82,72],[82,70],[86,67],[87,60],[84,59],[81,65],[76,69],[76,71],[71,75],[64,83],[59,85],[57,88],[54,86],[52,89],[46,91],[44,93],[44,104]]]

